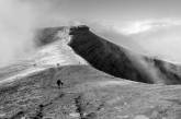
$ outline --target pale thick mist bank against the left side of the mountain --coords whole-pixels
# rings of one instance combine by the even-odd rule
[[[0,67],[33,50],[34,23],[29,5],[18,0],[0,1]]]

